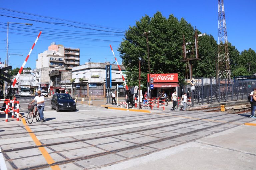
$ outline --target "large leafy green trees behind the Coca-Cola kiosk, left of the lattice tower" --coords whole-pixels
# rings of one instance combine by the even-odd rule
[[[184,18],[180,21],[173,15],[168,19],[160,12],[152,18],[145,15],[130,26],[126,31],[125,38],[121,42],[118,51],[126,66],[128,85],[138,84],[138,58],[142,57],[146,62],[141,65],[141,83],[146,87],[148,74],[147,40],[144,32],[148,33],[150,71],[151,73],[178,73],[180,84],[185,83],[186,62],[183,59],[182,43],[183,35],[186,42],[194,42],[195,30]],[[200,34],[200,32],[199,32]],[[194,76],[215,76],[215,57],[217,42],[210,36],[200,37],[199,62],[194,62]],[[193,48],[193,46],[188,46]]]

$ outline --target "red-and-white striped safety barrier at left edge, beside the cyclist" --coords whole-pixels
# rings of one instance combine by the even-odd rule
[[[8,122],[9,113],[12,113],[13,119],[15,119],[15,116],[16,116],[16,120],[19,121],[19,114],[20,114],[19,101],[10,100],[10,99],[0,99],[0,103],[5,103],[5,110],[0,111],[0,113],[5,113],[5,122]],[[15,107],[15,104],[16,104],[16,107]]]

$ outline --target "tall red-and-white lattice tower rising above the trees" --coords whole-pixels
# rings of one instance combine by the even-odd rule
[[[218,78],[230,78],[228,37],[223,0],[218,0]]]

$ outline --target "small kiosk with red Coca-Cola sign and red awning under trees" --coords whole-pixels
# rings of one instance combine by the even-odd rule
[[[172,93],[175,90],[178,93],[178,73],[150,74],[150,78],[151,79],[149,79],[148,74],[148,82],[153,85],[153,89],[151,89],[151,97],[158,97],[158,93],[164,91],[168,99],[171,99]]]

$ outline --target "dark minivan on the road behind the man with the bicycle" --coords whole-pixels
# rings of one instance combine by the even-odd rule
[[[76,111],[76,102],[69,94],[54,94],[51,100],[51,109],[56,109],[57,112],[60,110]]]

